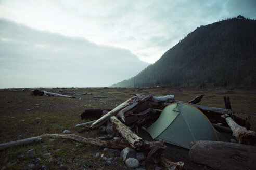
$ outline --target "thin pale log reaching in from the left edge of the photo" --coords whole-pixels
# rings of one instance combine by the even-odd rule
[[[27,139],[10,141],[8,143],[0,144],[0,150],[4,150],[13,146],[28,145],[33,143],[34,141],[41,141],[41,140],[43,140],[42,136],[37,136],[37,137],[31,137]]]

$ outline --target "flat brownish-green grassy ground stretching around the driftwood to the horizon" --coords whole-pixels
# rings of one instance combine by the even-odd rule
[[[62,134],[63,130],[78,134],[75,124],[88,121],[82,121],[80,118],[84,109],[113,109],[134,94],[152,94],[153,96],[173,94],[180,101],[189,101],[198,95],[205,94],[200,105],[220,108],[225,108],[223,96],[229,96],[233,110],[251,115],[251,129],[256,131],[255,88],[159,87],[144,88],[142,91],[100,88],[40,89],[92,93],[92,95],[76,96],[74,99],[31,96],[31,90],[33,89],[26,89],[25,92],[22,92],[22,89],[18,89],[18,92],[10,92],[8,89],[0,89],[0,143],[42,134]],[[236,115],[246,117],[242,114]],[[92,138],[100,136],[97,130],[79,135]],[[28,153],[30,149],[35,151]],[[121,159],[111,160],[111,165],[103,165],[103,161],[95,157],[96,152],[104,153],[103,148],[86,146],[71,140],[55,139],[52,141],[44,138],[43,142],[2,151],[0,168],[5,166],[8,169],[30,169],[29,165],[35,164],[36,166],[31,167],[32,169],[42,169],[42,166],[45,169],[127,169]],[[45,153],[50,153],[51,157]],[[40,161],[37,158],[40,158]],[[154,166],[149,168],[153,169]]]

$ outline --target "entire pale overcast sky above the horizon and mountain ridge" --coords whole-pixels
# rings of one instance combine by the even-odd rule
[[[0,88],[104,87],[256,1],[0,0]]]

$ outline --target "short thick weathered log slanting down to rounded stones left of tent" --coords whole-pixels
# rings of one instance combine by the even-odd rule
[[[114,128],[127,140],[132,148],[141,150],[144,147],[144,141],[138,135],[133,133],[126,125],[124,125],[116,116],[110,117],[110,122]]]

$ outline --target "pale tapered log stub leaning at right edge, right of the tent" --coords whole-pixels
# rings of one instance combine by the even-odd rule
[[[239,144],[254,145],[256,144],[256,133],[254,131],[247,131],[245,127],[238,125],[231,117],[227,114],[222,115],[226,119],[227,124],[233,131]]]

